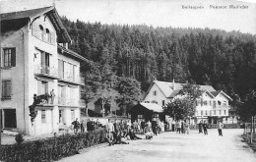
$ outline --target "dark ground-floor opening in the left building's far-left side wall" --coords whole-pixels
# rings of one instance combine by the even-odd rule
[[[17,128],[15,109],[4,110],[4,128]]]

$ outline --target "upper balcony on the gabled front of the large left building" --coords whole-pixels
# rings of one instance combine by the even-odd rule
[[[46,65],[35,65],[34,75],[39,77],[45,77],[50,79],[58,79],[58,71],[55,67]]]

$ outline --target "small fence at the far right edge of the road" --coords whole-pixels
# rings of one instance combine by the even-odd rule
[[[248,143],[256,143],[255,120],[252,123],[245,123],[243,135]]]

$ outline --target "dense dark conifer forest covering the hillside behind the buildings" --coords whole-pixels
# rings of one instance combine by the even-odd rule
[[[69,48],[94,63],[85,64],[82,71],[91,90],[106,78],[119,93],[120,78],[135,81],[142,92],[154,80],[173,79],[212,84],[231,97],[243,98],[256,89],[255,35],[210,28],[101,25],[66,17],[62,21],[73,39]]]

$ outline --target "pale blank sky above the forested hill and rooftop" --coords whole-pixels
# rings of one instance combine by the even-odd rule
[[[256,34],[256,0],[0,0],[1,13],[50,6],[71,21],[153,27],[209,27]],[[13,5],[16,4],[16,5]],[[214,9],[212,6],[223,7]],[[230,9],[229,5],[246,7]],[[15,6],[15,7],[14,7]],[[224,6],[226,6],[224,8]],[[201,9],[190,9],[201,7]],[[202,9],[203,8],[203,9]]]

